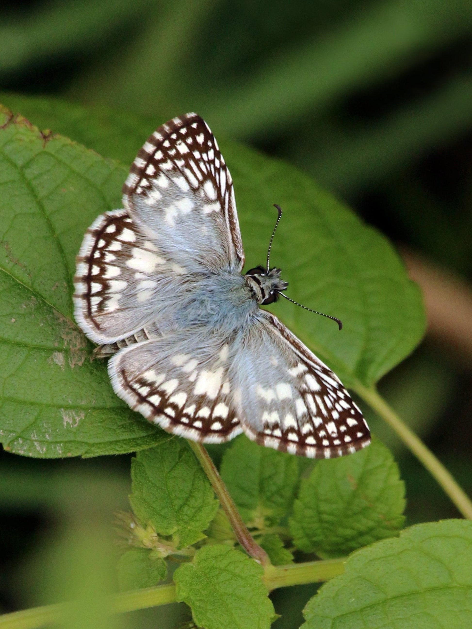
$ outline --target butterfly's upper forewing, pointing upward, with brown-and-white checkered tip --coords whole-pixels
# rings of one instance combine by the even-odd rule
[[[213,133],[197,114],[162,125],[138,153],[123,203],[143,232],[187,270],[244,264],[233,183]]]

